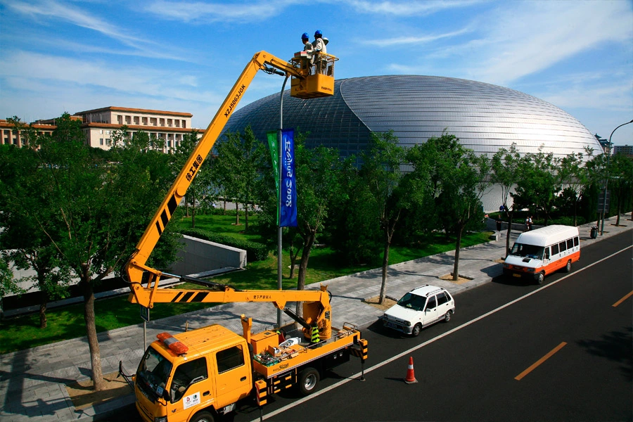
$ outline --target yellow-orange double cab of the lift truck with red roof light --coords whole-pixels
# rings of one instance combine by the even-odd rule
[[[241,335],[212,325],[161,336],[146,350],[134,379],[143,420],[191,421],[210,408],[223,414],[250,394],[252,367]]]

